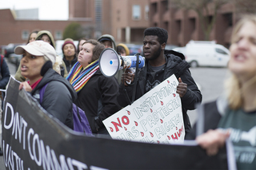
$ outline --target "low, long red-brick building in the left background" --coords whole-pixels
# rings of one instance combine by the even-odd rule
[[[30,32],[34,30],[49,30],[55,40],[62,39],[62,32],[71,22],[78,22],[81,25],[90,25],[92,18],[68,21],[42,21],[15,19],[10,9],[0,10],[0,45],[9,43],[25,43]]]

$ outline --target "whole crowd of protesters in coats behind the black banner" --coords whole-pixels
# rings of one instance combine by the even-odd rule
[[[230,138],[238,168],[256,169],[256,145],[242,136],[239,140],[235,136],[238,131],[249,132],[256,128],[256,16],[246,16],[234,27],[228,65],[232,76],[226,82],[226,95],[202,105],[206,113],[202,121],[206,132],[199,136],[195,130],[198,125],[192,128],[187,110],[196,109],[195,105],[202,102],[202,93],[191,76],[184,55],[165,49],[167,39],[168,33],[162,28],[144,30],[141,55],[146,58],[146,64],[135,70],[138,74],[135,79],[135,73],[130,69],[119,70],[115,77],[104,77],[101,73],[98,58],[103,49],[112,48],[122,56],[130,54],[127,46],[116,45],[110,34],[104,34],[98,40],[81,38],[77,47],[71,38],[67,38],[62,45],[63,58],[59,59],[52,34],[47,30],[33,32],[27,45],[19,45],[14,50],[23,55],[15,79],[21,81],[19,89],[25,89],[67,127],[73,129],[74,102],[85,111],[92,132],[107,135],[102,121],[174,74],[182,102],[185,139],[196,139],[209,155],[215,155]],[[2,62],[0,87],[4,88],[10,73],[6,62]],[[40,102],[38,93],[45,85],[45,95]],[[256,133],[253,135],[251,137],[255,138]],[[241,150],[253,154],[254,159],[242,159]]]

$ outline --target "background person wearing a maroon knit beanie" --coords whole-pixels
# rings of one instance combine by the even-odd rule
[[[67,73],[69,73],[70,69],[78,61],[75,45],[72,39],[64,40],[64,43],[62,45],[62,53],[63,53],[63,61],[66,65],[66,71]]]

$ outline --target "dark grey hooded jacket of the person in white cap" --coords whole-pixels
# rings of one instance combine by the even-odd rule
[[[56,117],[59,121],[70,128],[74,128],[73,124],[73,99],[77,98],[70,82],[59,75],[54,69],[48,69],[42,80],[32,90],[31,95],[40,103],[40,89],[46,86],[45,93],[42,98],[42,108],[48,113]]]

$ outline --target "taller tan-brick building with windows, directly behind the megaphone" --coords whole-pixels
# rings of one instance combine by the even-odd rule
[[[70,0],[69,18],[93,18],[94,38],[111,34],[116,42],[142,43],[149,26],[148,0]],[[90,9],[83,10],[83,6]]]

